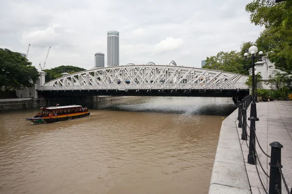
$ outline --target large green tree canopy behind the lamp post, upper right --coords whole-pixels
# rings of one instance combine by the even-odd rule
[[[251,64],[250,60],[241,60],[241,56],[248,51],[252,45],[267,54],[267,57],[275,64],[277,69],[292,74],[292,0],[275,3],[275,0],[253,0],[245,7],[250,13],[250,20],[255,25],[265,26],[256,42],[245,42],[241,45],[240,51],[219,52],[217,56],[207,57],[204,68],[218,69],[234,73],[248,75],[247,68],[241,65]],[[237,56],[238,55],[238,56]],[[230,67],[221,58],[234,63]],[[250,67],[248,67],[250,68]]]

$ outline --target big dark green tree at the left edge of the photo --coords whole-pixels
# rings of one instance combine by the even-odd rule
[[[36,84],[38,77],[36,67],[25,57],[0,48],[0,86],[8,90],[31,87]]]

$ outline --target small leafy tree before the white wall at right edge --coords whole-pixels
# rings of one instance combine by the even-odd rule
[[[292,76],[288,75],[287,73],[279,73],[275,71],[273,75],[269,76],[269,81],[266,83],[270,84],[271,86],[275,86],[279,90],[284,86],[290,86],[291,81]]]

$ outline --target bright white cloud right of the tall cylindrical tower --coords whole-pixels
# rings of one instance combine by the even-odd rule
[[[153,53],[159,54],[170,50],[176,50],[180,48],[182,45],[183,45],[182,38],[167,37],[155,46]]]

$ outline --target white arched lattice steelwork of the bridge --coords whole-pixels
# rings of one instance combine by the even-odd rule
[[[127,64],[81,71],[38,87],[38,90],[99,89],[247,89],[248,76],[235,73],[168,65]]]

